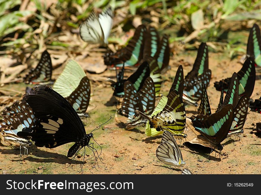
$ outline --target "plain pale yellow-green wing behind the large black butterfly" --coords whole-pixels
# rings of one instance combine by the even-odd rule
[[[85,76],[82,66],[74,60],[69,60],[63,72],[55,81],[53,89],[64,98],[68,97],[79,86],[80,81]]]

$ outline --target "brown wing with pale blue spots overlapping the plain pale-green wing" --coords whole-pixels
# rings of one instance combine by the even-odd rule
[[[90,80],[85,76],[78,87],[66,98],[79,116],[85,114],[90,102],[90,94]]]

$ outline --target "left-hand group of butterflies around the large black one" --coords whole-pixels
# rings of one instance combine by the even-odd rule
[[[90,80],[82,67],[69,60],[53,87],[43,85],[50,82],[52,63],[47,50],[35,69],[24,77],[25,83],[42,84],[27,88],[21,101],[16,101],[2,111],[0,132],[5,141],[16,142],[27,148],[35,142],[38,147],[55,148],[75,142],[67,156],[71,157],[81,148],[93,144],[93,133],[86,134],[80,117],[87,117],[90,101]],[[31,141],[30,141],[31,140]]]

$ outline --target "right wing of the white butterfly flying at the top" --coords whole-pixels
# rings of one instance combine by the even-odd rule
[[[110,31],[112,29],[113,12],[110,6],[106,7],[101,14],[99,14],[99,22],[104,34],[104,42],[108,43]]]

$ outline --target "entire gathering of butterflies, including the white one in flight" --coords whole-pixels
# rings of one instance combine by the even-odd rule
[[[113,12],[109,6],[99,15],[92,12],[80,26],[80,37],[90,43],[108,43],[112,21]],[[193,68],[185,77],[182,65],[178,67],[168,95],[161,96],[156,107],[161,74],[169,67],[167,35],[160,39],[154,27],[140,25],[126,47],[103,57],[106,65],[116,69],[117,81],[109,81],[114,89],[113,95],[123,98],[119,113],[128,117],[126,129],[146,126],[147,136],[163,134],[156,155],[165,164],[177,167],[185,164],[174,137],[187,137],[184,132],[186,106],[198,106],[200,101],[198,115],[188,118],[199,132],[198,139],[218,152],[223,149],[221,142],[227,136],[243,132],[248,107],[261,113],[261,97],[249,103],[255,84],[255,66],[261,66],[261,35],[256,24],[250,31],[247,57],[241,70],[214,83],[221,95],[213,114],[207,95],[211,70],[206,43],[200,44]],[[130,77],[124,78],[126,66],[138,68]],[[120,71],[117,72],[117,69]],[[86,134],[80,118],[87,117],[91,95],[90,81],[84,70],[76,61],[70,60],[53,87],[50,86],[51,77],[51,58],[44,51],[36,68],[24,77],[25,83],[38,85],[34,90],[28,88],[21,101],[14,102],[2,112],[0,132],[4,140],[19,143],[20,149],[25,148],[25,152],[32,145],[31,141],[46,148],[75,142],[68,151],[68,157],[76,155],[85,146],[94,151],[90,139],[97,128]],[[257,123],[256,130],[261,131],[261,123]],[[187,169],[183,173],[191,174]]]

